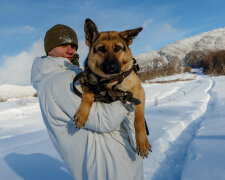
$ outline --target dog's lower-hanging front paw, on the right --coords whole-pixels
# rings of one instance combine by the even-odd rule
[[[136,143],[137,143],[137,153],[143,157],[143,158],[147,158],[148,157],[148,153],[151,150],[151,145],[148,142],[148,138],[145,134],[137,134],[136,135]]]

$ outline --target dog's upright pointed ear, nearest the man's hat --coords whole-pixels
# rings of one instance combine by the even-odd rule
[[[86,19],[84,24],[86,44],[91,47],[99,36],[98,28],[91,19]]]

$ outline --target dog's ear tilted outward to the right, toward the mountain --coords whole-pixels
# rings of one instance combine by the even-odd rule
[[[133,39],[138,35],[138,33],[142,31],[142,29],[142,27],[139,27],[136,29],[120,32],[120,37],[124,39],[127,42],[127,45],[129,46],[132,44]]]

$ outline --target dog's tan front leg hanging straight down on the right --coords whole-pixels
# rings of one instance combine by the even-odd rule
[[[134,107],[135,119],[134,127],[136,133],[136,144],[137,144],[137,153],[140,154],[143,158],[148,156],[149,150],[151,150],[151,145],[148,142],[147,133],[145,129],[145,119],[144,119],[144,106],[145,106],[145,95],[144,90],[140,86],[136,86],[133,91],[135,98],[141,100],[141,104]]]

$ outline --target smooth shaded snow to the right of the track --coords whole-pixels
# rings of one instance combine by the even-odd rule
[[[213,77],[212,82],[207,111],[189,147],[182,173],[185,180],[225,179],[225,81],[224,77]]]

